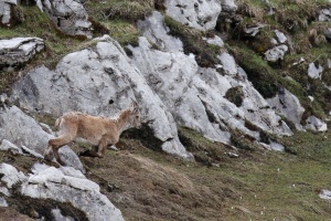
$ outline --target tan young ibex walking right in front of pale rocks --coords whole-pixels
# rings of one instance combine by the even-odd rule
[[[58,149],[73,140],[96,146],[82,155],[102,158],[107,146],[118,143],[120,134],[128,124],[134,124],[136,128],[140,127],[140,112],[137,102],[134,101],[128,108],[111,118],[90,116],[81,112],[66,113],[55,122],[55,126],[58,126],[58,137],[49,140],[44,158],[51,160],[52,149],[56,161],[64,166]]]

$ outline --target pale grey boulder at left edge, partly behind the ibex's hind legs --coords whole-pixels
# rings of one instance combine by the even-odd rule
[[[49,139],[53,137],[53,135],[45,133],[32,117],[25,115],[17,106],[0,109],[0,141],[2,139],[7,140],[2,140],[1,146],[8,145],[9,140],[18,147],[28,147],[39,155],[43,155]],[[65,146],[61,148],[60,152],[63,156],[64,162],[84,171],[81,160],[70,147]]]

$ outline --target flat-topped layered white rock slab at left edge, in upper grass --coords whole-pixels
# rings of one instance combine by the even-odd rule
[[[0,70],[24,64],[44,46],[44,41],[39,38],[0,40]]]

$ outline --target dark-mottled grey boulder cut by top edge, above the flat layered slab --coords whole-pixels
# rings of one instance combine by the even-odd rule
[[[65,34],[92,38],[92,23],[79,0],[38,0],[38,6]]]

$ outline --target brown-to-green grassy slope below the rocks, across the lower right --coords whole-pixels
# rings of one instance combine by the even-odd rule
[[[212,143],[186,128],[181,140],[196,162],[153,151],[136,138],[121,138],[119,151],[103,159],[81,157],[87,177],[102,187],[126,220],[328,220],[330,203],[318,197],[330,185],[330,133],[296,133],[282,141],[292,154],[238,149]],[[78,148],[78,147],[74,147]],[[200,157],[199,157],[200,156]],[[38,161],[0,152],[0,160],[30,172]],[[135,185],[132,185],[135,183]],[[47,215],[33,199],[15,207]],[[54,204],[44,201],[43,204]],[[77,215],[57,204],[67,215]],[[66,210],[66,209],[68,210]],[[74,212],[74,213],[73,213]],[[9,211],[7,211],[9,213]],[[3,214],[7,214],[3,213]],[[11,211],[9,214],[12,214]]]

